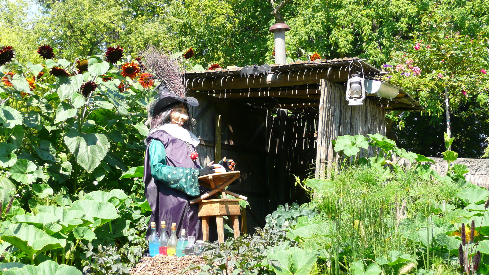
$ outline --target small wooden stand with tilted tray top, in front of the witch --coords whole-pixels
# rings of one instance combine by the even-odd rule
[[[216,217],[217,235],[220,243],[224,242],[224,216],[230,216],[234,237],[240,235],[240,226],[238,216],[241,215],[239,202],[247,200],[243,195],[224,189],[240,177],[240,171],[231,171],[225,173],[215,173],[199,177],[199,184],[210,188],[211,190],[196,199],[190,201],[190,204],[199,203],[199,217],[202,217],[203,240],[209,240],[209,217]],[[222,199],[205,200],[217,192],[222,192]],[[227,195],[234,196],[238,199],[228,199]]]

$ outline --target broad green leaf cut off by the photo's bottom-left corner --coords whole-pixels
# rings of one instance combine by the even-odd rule
[[[74,266],[58,265],[54,261],[44,261],[38,266],[26,265],[21,269],[7,270],[3,275],[82,275]]]

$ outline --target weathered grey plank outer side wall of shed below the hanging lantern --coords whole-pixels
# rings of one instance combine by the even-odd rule
[[[380,105],[364,100],[363,105],[349,106],[346,88],[321,79],[319,102],[316,177],[324,177],[326,166],[335,160],[332,139],[344,135],[386,134],[385,114]],[[368,154],[372,154],[369,148]]]

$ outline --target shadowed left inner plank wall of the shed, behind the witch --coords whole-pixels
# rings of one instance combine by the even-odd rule
[[[197,146],[202,165],[214,160],[216,115],[221,115],[222,157],[236,161],[241,177],[229,190],[248,197],[251,208],[247,211],[247,231],[265,225],[269,214],[267,110],[244,104],[222,101],[199,92],[191,94],[199,106],[190,112],[197,123],[193,133],[201,140]]]

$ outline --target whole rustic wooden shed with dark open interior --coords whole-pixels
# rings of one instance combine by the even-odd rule
[[[333,160],[331,139],[385,135],[386,110],[424,110],[402,91],[392,100],[369,95],[363,105],[349,106],[345,93],[351,73],[362,67],[368,79],[381,73],[358,58],[270,67],[270,74],[248,77],[235,66],[185,72],[188,95],[200,102],[191,110],[197,121],[194,134],[201,140],[200,161],[225,156],[242,171],[229,189],[249,198],[243,231],[263,226],[280,204],[309,200],[295,176],[302,180],[324,173]]]

